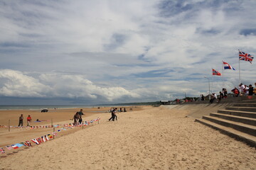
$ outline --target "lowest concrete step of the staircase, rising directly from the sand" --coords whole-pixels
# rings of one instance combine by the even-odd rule
[[[236,140],[245,142],[252,147],[256,147],[256,137],[255,136],[248,135],[246,133],[240,132],[238,130],[234,130],[233,128],[225,127],[223,125],[218,125],[216,123],[210,122],[205,119],[196,119],[196,122],[202,123],[203,125],[207,125],[210,128],[213,128],[215,130],[219,130],[221,133],[228,135],[230,137],[234,137]]]

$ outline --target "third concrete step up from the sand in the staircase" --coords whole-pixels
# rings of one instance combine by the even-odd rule
[[[223,113],[210,113],[210,116],[223,118],[225,120],[231,120],[238,123],[245,123],[247,125],[254,125],[256,126],[256,118],[245,118],[237,115],[227,115]]]

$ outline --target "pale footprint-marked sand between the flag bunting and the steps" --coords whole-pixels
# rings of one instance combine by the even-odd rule
[[[110,113],[88,114],[100,123],[2,154],[0,169],[256,169],[254,147],[194,121],[221,108],[207,107],[144,106],[118,113],[114,122]],[[33,130],[20,133],[27,131]]]

